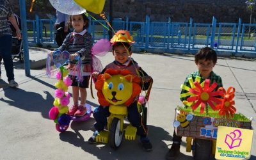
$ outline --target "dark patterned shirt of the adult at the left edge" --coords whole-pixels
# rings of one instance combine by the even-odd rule
[[[13,14],[9,0],[0,0],[0,36],[12,35],[8,17]]]

